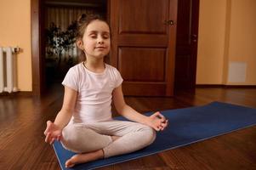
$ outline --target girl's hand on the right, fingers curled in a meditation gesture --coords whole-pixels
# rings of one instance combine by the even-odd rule
[[[168,120],[157,111],[151,116],[148,116],[148,125],[153,127],[156,131],[162,131],[168,126]]]

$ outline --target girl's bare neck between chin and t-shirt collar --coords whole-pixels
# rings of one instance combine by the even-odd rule
[[[89,70],[95,73],[101,73],[105,71],[105,63],[103,59],[86,59],[83,65]]]

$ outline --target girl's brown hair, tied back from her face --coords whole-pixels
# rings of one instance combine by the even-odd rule
[[[77,20],[77,32],[76,32],[77,41],[82,38],[87,26],[94,20],[103,21],[109,26],[108,22],[105,20],[105,18],[100,16],[100,14],[81,14]],[[84,61],[86,59],[86,56],[82,50],[81,50],[81,52],[82,53],[79,56],[79,58],[80,58],[79,60]]]

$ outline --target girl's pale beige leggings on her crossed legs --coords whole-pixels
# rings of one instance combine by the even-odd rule
[[[69,123],[62,131],[67,150],[85,153],[103,150],[104,156],[117,156],[144,148],[156,139],[153,128],[137,122],[108,121],[89,124]],[[112,141],[111,136],[119,139]]]

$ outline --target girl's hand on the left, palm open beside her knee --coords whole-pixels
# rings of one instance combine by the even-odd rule
[[[47,122],[47,127],[44,131],[45,137],[45,142],[49,144],[53,144],[54,140],[60,141],[61,135],[62,135],[62,130],[60,127],[55,125],[53,122],[48,121]]]

